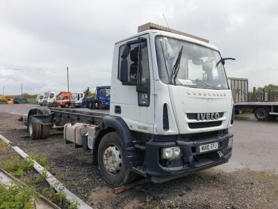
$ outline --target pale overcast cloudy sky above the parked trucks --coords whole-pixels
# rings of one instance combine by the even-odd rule
[[[278,85],[278,1],[0,0],[0,94],[110,85],[113,47],[154,22],[220,49],[228,77]]]

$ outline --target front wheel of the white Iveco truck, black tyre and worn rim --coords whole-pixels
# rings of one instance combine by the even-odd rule
[[[127,166],[122,139],[116,132],[110,132],[101,139],[97,160],[102,176],[115,187],[131,183],[137,177]]]

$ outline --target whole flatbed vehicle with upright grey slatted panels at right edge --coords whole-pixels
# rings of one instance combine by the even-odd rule
[[[255,118],[259,121],[278,118],[278,92],[264,91],[256,93],[248,91],[248,79],[228,78],[229,86],[234,99],[235,112],[238,114],[243,111],[252,111]]]

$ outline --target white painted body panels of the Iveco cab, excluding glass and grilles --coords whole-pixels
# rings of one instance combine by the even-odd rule
[[[163,84],[158,76],[158,66],[156,62],[155,37],[167,36],[179,38],[193,44],[203,45],[211,49],[218,50],[217,47],[200,40],[181,36],[179,34],[167,31],[149,30],[138,33],[116,42],[113,56],[112,76],[111,76],[111,116],[120,116],[128,125],[130,130],[146,132],[150,134],[187,134],[197,132],[208,132],[213,130],[222,130],[231,127],[231,111],[233,109],[233,100],[230,90],[213,90],[189,88],[185,86],[172,86]],[[150,105],[149,107],[138,106],[138,94],[136,86],[123,86],[117,79],[119,48],[126,42],[136,40],[138,37],[147,38],[150,70]],[[192,91],[191,95],[188,91]],[[193,94],[197,92],[197,95]],[[199,95],[199,93],[201,95]],[[223,96],[217,96],[216,94]],[[204,95],[206,94],[206,95]],[[214,96],[215,94],[215,96]],[[225,94],[225,96],[224,96]],[[167,104],[169,130],[163,130],[163,104]],[[115,105],[120,105],[122,113],[115,114]],[[213,113],[224,112],[222,125],[219,127],[206,127],[190,129],[188,122],[195,123],[201,121],[188,120],[188,113]],[[205,122],[205,121],[204,121]]]

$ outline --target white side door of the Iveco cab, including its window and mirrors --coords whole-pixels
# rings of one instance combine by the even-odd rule
[[[115,47],[117,52],[111,115],[122,117],[131,130],[153,133],[154,79],[149,35],[121,42]]]

